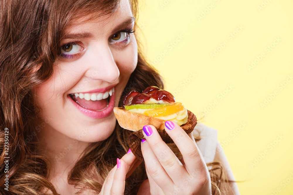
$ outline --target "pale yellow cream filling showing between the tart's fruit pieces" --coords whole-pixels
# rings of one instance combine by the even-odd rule
[[[150,100],[150,101],[149,101]],[[144,103],[168,103],[166,101],[163,100],[155,100],[155,99],[149,99],[147,101],[145,101]],[[139,114],[144,114],[145,111],[150,110],[150,109],[130,109],[130,112],[134,112],[134,113],[139,113]],[[153,110],[153,109],[152,109]],[[164,115],[164,116],[159,116],[159,117],[154,117],[154,118],[158,118],[161,120],[171,120],[173,122],[176,122],[178,125],[183,125],[187,122],[188,119],[188,114],[187,114],[187,109],[184,108],[182,111],[178,111],[176,113],[172,113],[169,115]]]

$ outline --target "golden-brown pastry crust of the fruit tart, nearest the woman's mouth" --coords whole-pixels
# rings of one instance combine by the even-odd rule
[[[114,114],[117,118],[119,125],[123,129],[138,131],[141,130],[144,125],[154,125],[156,129],[163,130],[165,121],[139,113],[132,113],[122,107],[114,107]]]

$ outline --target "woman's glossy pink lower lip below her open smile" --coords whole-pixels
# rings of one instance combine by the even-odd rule
[[[67,98],[69,98],[69,101],[71,101],[73,103],[73,105],[79,109],[79,111],[81,111],[81,113],[83,113],[84,115],[91,117],[91,118],[104,118],[109,116],[114,109],[114,104],[115,104],[115,92],[112,94],[112,96],[110,96],[110,101],[109,101],[109,105],[107,108],[105,108],[102,111],[93,111],[93,110],[89,110],[86,108],[83,108],[81,106],[79,106],[79,104],[77,104],[73,99],[71,99],[71,97],[68,95]]]

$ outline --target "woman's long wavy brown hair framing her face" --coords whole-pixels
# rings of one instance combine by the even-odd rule
[[[138,17],[138,2],[130,0],[132,13]],[[54,61],[60,51],[64,30],[76,17],[90,13],[111,15],[119,0],[2,0],[0,2],[0,192],[1,194],[57,194],[48,180],[49,159],[38,149],[36,133],[44,126],[38,124],[40,107],[35,102],[32,89],[50,78]],[[66,7],[66,9],[64,9]],[[82,11],[81,11],[82,10]],[[137,29],[137,21],[134,30]],[[123,94],[130,90],[142,91],[148,86],[163,89],[163,81],[157,71],[143,56],[142,44],[138,44],[137,67],[130,76]],[[122,105],[121,99],[119,105]],[[128,150],[129,131],[116,123],[110,137],[91,143],[83,157],[68,175],[68,183],[76,188],[100,192],[103,183],[91,177],[105,179]],[[9,139],[7,139],[9,138]],[[199,140],[199,137],[196,137]],[[6,148],[9,149],[9,172],[5,167]],[[173,146],[174,152],[176,147]],[[179,152],[176,152],[180,156]],[[212,191],[220,193],[222,170],[219,163],[209,164]],[[8,179],[7,179],[8,178]],[[143,163],[126,180],[125,194],[137,194],[140,184],[147,179]],[[9,191],[4,189],[9,180]],[[134,182],[135,181],[135,182]],[[8,187],[8,185],[6,186]],[[45,189],[45,190],[44,190]],[[47,192],[44,192],[47,191]]]

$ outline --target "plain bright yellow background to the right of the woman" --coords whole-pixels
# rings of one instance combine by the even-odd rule
[[[293,194],[293,1],[140,4],[137,33],[149,60],[176,101],[218,130],[240,193]]]

